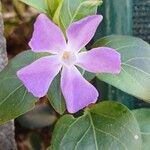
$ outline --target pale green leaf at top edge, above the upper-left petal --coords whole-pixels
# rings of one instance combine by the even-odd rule
[[[24,2],[27,5],[30,5],[34,8],[36,8],[40,12],[46,13],[47,6],[45,3],[45,0],[20,0],[20,1]]]

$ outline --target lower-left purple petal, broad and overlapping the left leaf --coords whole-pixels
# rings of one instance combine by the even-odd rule
[[[17,72],[29,92],[35,97],[46,95],[48,88],[61,69],[57,56],[47,56],[36,60]]]

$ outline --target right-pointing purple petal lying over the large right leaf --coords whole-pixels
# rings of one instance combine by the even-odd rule
[[[121,58],[116,50],[99,47],[79,53],[77,65],[89,72],[118,74],[121,71]]]

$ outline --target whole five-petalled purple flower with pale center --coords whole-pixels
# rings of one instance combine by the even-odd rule
[[[59,27],[44,14],[39,15],[29,46],[36,53],[49,52],[52,55],[42,57],[17,72],[28,91],[35,97],[43,97],[62,69],[60,86],[68,112],[75,113],[95,103],[97,90],[82,77],[76,66],[93,73],[118,74],[121,70],[120,54],[112,48],[98,47],[80,52],[94,36],[102,18],[94,15],[74,22],[66,31],[66,42]]]

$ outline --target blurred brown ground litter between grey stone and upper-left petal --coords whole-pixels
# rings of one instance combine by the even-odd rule
[[[5,37],[9,57],[28,49],[32,24],[37,11],[18,0],[2,0]]]

